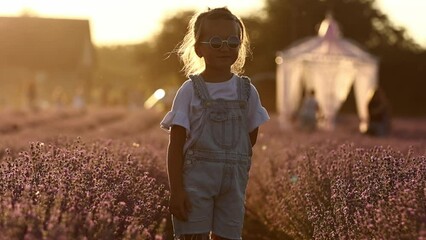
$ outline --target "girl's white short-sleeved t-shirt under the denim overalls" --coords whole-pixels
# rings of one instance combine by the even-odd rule
[[[207,90],[212,99],[236,100],[238,99],[238,76],[234,75],[225,82],[206,82]],[[253,131],[261,124],[269,120],[266,109],[262,106],[255,86],[251,84],[250,97],[248,99],[248,129]],[[200,131],[202,126],[201,115],[203,108],[201,99],[194,91],[192,81],[186,80],[178,89],[169,111],[160,123],[161,128],[170,131],[172,125],[179,125],[186,129],[187,142],[191,142],[191,136],[197,136],[192,131]]]

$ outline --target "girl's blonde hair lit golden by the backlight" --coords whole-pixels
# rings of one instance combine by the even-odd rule
[[[228,8],[214,8],[205,12],[195,14],[188,25],[188,31],[177,49],[177,54],[183,62],[182,71],[186,76],[191,74],[199,74],[205,69],[205,63],[195,53],[195,45],[200,41],[202,28],[206,19],[229,19],[235,21],[240,27],[241,45],[238,50],[238,58],[231,66],[231,72],[234,74],[242,74],[244,72],[244,64],[246,57],[251,54],[250,41],[245,31],[243,21],[229,11]]]

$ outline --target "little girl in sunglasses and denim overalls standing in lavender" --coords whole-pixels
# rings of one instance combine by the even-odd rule
[[[244,24],[227,8],[196,14],[179,46],[189,79],[161,122],[176,239],[241,239],[252,147],[269,119],[238,75],[248,53]]]

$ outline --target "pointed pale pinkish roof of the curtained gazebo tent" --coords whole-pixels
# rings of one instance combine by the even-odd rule
[[[302,39],[277,54],[283,58],[335,57],[374,63],[377,61],[376,57],[364,51],[358,44],[343,38],[337,22],[331,15],[322,21],[318,36]]]

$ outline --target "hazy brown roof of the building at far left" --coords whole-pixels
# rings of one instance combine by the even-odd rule
[[[72,70],[93,55],[88,20],[0,17],[0,67]]]

